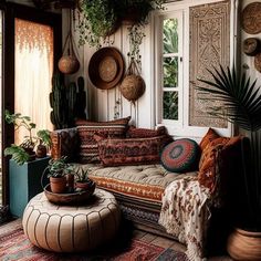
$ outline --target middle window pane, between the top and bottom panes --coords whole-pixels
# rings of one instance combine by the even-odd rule
[[[178,58],[164,58],[164,87],[178,85]]]

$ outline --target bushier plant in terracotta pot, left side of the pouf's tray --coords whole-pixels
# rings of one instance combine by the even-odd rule
[[[58,159],[50,159],[48,167],[44,169],[43,175],[48,175],[50,179],[50,188],[54,194],[63,194],[66,191],[66,174],[67,174],[66,157]]]

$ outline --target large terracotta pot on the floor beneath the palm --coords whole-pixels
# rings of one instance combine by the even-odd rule
[[[234,260],[261,260],[261,232],[236,229],[229,236],[227,250]]]

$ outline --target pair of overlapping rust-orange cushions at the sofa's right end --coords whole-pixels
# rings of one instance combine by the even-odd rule
[[[209,128],[201,139],[201,157],[199,161],[199,184],[215,192],[220,178],[229,174],[229,165],[237,163],[240,154],[242,136],[221,137],[215,129]]]

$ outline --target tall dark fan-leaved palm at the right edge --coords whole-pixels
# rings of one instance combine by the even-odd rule
[[[250,166],[243,168],[248,217],[242,225],[251,230],[261,231],[261,93],[257,80],[251,82],[246,72],[239,74],[236,67],[208,70],[212,81],[199,79],[208,86],[199,91],[211,94],[210,100],[219,100],[221,107],[210,108],[210,114],[226,117],[231,123],[246,130],[250,138]],[[247,155],[246,155],[247,156]],[[246,212],[246,210],[244,210]]]

